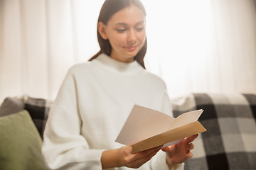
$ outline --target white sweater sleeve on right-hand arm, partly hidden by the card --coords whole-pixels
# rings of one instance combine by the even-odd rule
[[[161,112],[166,113],[167,115],[174,116],[172,113],[171,101],[169,99],[167,92],[164,94]],[[166,153],[161,150],[150,160],[150,164],[152,170],[169,170],[169,167],[167,166],[166,163]],[[178,164],[172,170],[183,170],[183,164]]]

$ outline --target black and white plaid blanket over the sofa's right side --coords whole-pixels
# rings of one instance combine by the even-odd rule
[[[189,94],[173,100],[174,117],[203,109],[207,132],[193,142],[185,170],[256,169],[256,95]]]

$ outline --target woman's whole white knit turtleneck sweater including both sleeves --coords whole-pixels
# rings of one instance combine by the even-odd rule
[[[123,146],[114,140],[134,103],[172,115],[164,81],[136,61],[101,54],[71,67],[44,132],[42,153],[49,169],[102,169],[102,152]],[[166,154],[159,151],[139,169],[168,169]]]

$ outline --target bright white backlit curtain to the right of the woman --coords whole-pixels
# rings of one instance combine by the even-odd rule
[[[160,57],[154,61],[159,62],[156,70],[171,97],[190,92],[256,92],[254,2],[180,0],[159,8],[161,17],[151,23],[156,23],[155,32],[148,33],[149,38],[154,36],[149,51],[154,53],[151,57]]]

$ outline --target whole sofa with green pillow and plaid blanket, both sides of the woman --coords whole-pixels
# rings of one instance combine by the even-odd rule
[[[0,106],[0,169],[46,169],[43,130],[52,101],[5,98]],[[187,94],[171,99],[174,117],[203,109],[206,132],[193,142],[185,170],[256,169],[256,95]]]

